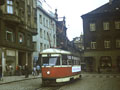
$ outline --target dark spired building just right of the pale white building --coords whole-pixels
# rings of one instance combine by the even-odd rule
[[[68,50],[68,38],[65,17],[58,17],[57,9],[55,10],[55,16],[57,48]]]

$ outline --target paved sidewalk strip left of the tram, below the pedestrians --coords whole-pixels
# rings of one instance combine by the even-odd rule
[[[40,77],[41,77],[41,73],[39,76],[29,75],[28,78],[25,78],[25,75],[24,76],[23,75],[21,75],[21,76],[4,76],[3,80],[0,81],[0,85],[11,83],[11,82],[18,82],[18,81],[22,81],[22,80],[35,79],[35,78],[40,78]]]

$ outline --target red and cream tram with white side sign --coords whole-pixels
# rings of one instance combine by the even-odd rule
[[[80,58],[69,51],[46,49],[41,52],[42,84],[58,84],[81,77]]]

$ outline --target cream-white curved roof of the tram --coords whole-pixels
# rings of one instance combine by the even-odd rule
[[[69,52],[69,51],[65,51],[65,50],[62,50],[62,49],[55,49],[55,48],[45,49],[40,54],[50,54],[50,53],[54,53],[54,54],[71,54],[71,52]]]

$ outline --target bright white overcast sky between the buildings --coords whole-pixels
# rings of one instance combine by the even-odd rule
[[[58,17],[66,17],[67,37],[72,40],[83,33],[81,16],[108,3],[109,0],[44,0],[46,6],[54,13],[58,11]]]

